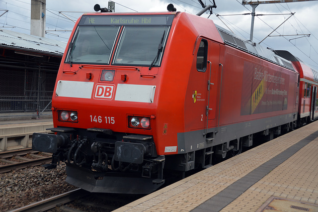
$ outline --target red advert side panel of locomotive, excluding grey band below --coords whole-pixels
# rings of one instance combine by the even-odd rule
[[[295,112],[294,71],[235,49],[225,58],[221,125]]]

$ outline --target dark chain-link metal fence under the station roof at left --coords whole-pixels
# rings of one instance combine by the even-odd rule
[[[57,72],[0,68],[0,121],[52,118]]]

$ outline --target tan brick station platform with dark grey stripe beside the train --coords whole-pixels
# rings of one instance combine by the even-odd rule
[[[318,121],[115,212],[318,212]]]

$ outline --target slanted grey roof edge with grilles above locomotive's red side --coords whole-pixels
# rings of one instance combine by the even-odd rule
[[[249,54],[255,55],[257,57],[260,57],[262,59],[271,61],[275,64],[278,64],[280,66],[283,66],[285,68],[294,70],[294,67],[292,66],[292,63],[289,61],[289,59],[285,59],[277,54],[275,54],[274,51],[265,48],[251,40],[246,40],[244,38],[239,37],[238,35],[234,34],[233,32],[228,31],[227,29],[224,29],[221,26],[216,25],[217,29],[220,32],[221,37],[223,38],[223,41],[235,48],[238,48],[242,51],[248,52]],[[295,57],[294,57],[295,58]],[[295,71],[295,70],[294,70]]]

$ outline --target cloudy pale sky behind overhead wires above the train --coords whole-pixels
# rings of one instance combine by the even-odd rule
[[[202,0],[206,5],[213,0]],[[251,0],[247,0],[251,1]],[[255,0],[253,0],[255,1]],[[198,13],[198,0],[114,0],[115,12],[167,11],[172,3],[177,11]],[[84,12],[94,12],[98,3],[107,7],[108,0],[46,0],[46,37],[68,42],[76,21]],[[252,7],[241,0],[215,0],[213,14],[202,17],[231,29],[239,37],[249,39]],[[4,10],[8,12],[4,13]],[[287,50],[318,70],[318,0],[259,4],[256,9],[253,41],[277,50]],[[285,23],[290,13],[294,13]],[[4,13],[4,14],[2,14]],[[2,14],[2,15],[1,15]],[[0,0],[0,29],[30,34],[31,0]],[[64,15],[63,15],[64,14]],[[245,15],[242,15],[245,14]],[[282,24],[283,23],[283,24]],[[272,31],[282,24],[275,32]],[[270,34],[271,33],[271,34]],[[267,37],[270,34],[270,37]],[[310,35],[309,35],[310,34]],[[282,36],[284,35],[284,36]],[[297,39],[295,39],[297,38]]]

